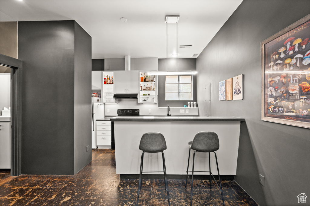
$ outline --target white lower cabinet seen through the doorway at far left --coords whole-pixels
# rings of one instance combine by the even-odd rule
[[[0,169],[11,169],[11,122],[0,122]]]

